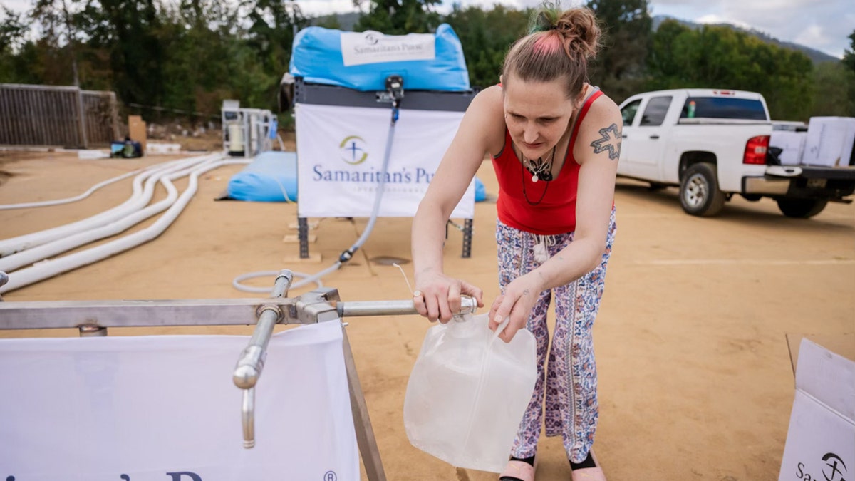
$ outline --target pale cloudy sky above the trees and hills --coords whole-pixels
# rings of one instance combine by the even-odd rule
[[[540,0],[457,0],[464,6],[490,8],[493,3],[509,7],[537,6]],[[369,0],[363,0],[367,4]],[[450,5],[451,0],[445,0]],[[352,0],[297,0],[305,15],[357,11]],[[569,7],[581,2],[564,0]],[[30,8],[32,0],[0,0],[15,11]],[[775,39],[805,45],[841,58],[850,48],[855,30],[852,0],[651,0],[651,15],[669,15],[698,23],[732,23],[752,27]]]

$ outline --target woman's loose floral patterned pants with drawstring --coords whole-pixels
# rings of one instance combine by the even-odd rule
[[[611,211],[609,234],[600,264],[575,282],[546,290],[532,309],[526,328],[537,342],[538,378],[534,394],[516,433],[510,454],[516,458],[534,456],[540,427],[546,436],[563,436],[567,458],[581,462],[593,445],[597,430],[597,365],[593,357],[593,320],[603,297],[605,268],[615,240],[615,211]],[[545,241],[550,256],[573,241],[573,233],[540,236],[497,222],[498,282],[504,288],[518,276],[540,265],[534,246]],[[549,345],[546,311],[555,297],[556,327]],[[545,369],[549,352],[548,371]],[[544,401],[545,394],[545,401]],[[545,419],[544,419],[545,407]]]

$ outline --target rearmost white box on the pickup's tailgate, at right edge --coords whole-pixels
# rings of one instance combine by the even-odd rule
[[[802,163],[825,167],[852,165],[855,145],[855,118],[811,117]]]

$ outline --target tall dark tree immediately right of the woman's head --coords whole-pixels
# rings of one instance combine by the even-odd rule
[[[640,91],[650,50],[652,21],[647,0],[590,0],[603,27],[603,50],[591,69],[591,81],[616,102]]]

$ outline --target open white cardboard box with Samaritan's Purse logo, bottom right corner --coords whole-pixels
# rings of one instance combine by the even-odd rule
[[[787,342],[796,391],[778,481],[853,479],[855,335],[787,335]]]

